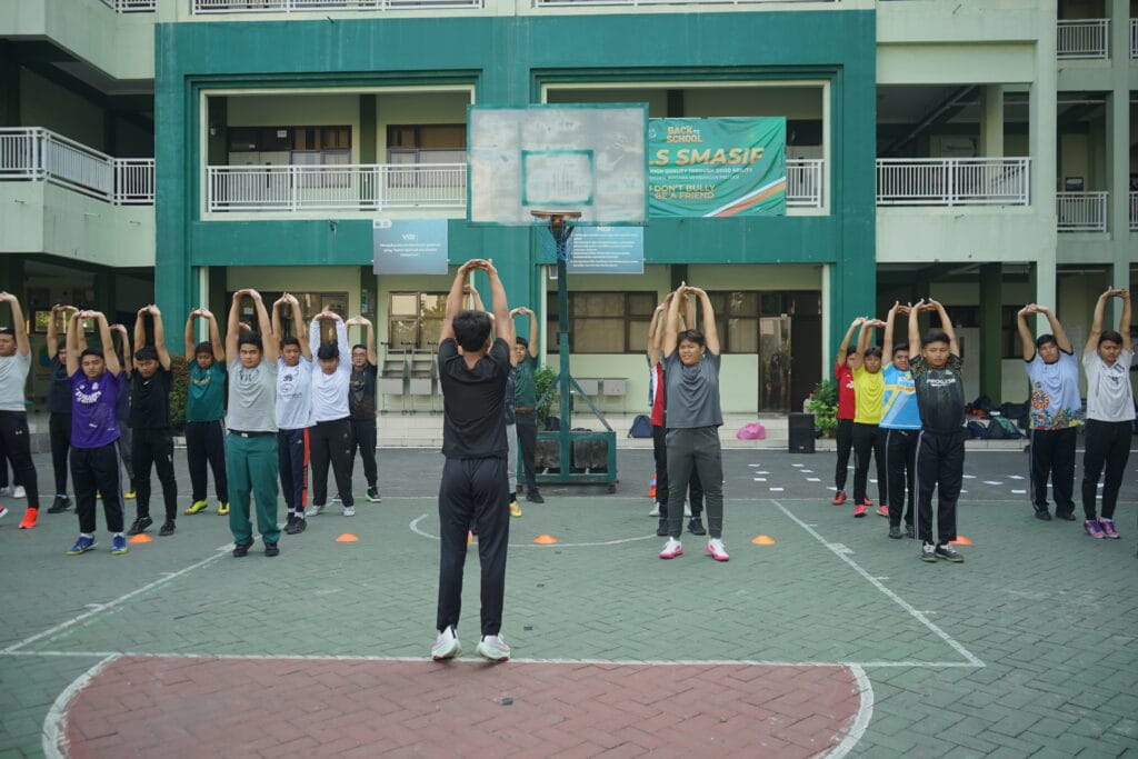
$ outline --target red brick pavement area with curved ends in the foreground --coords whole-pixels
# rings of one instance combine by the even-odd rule
[[[809,757],[858,706],[836,666],[123,657],[72,699],[64,753]]]

